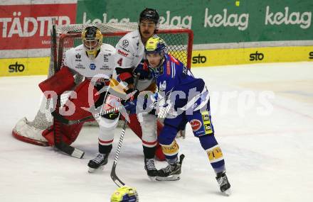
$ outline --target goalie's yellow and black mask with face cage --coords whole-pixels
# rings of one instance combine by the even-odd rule
[[[102,45],[102,33],[95,26],[87,27],[82,32],[82,42],[90,59],[97,57],[97,52]]]

